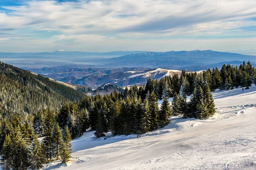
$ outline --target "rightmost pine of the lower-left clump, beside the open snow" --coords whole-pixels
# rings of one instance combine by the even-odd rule
[[[70,161],[71,158],[71,136],[70,131],[68,130],[68,127],[66,126],[64,135],[63,135],[63,145],[61,150],[61,163],[67,164],[68,161]]]

